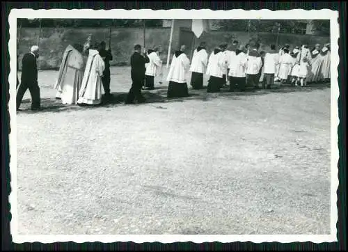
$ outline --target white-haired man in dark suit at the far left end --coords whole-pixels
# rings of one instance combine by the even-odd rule
[[[21,84],[17,90],[17,111],[23,100],[24,93],[27,89],[31,95],[31,110],[40,109],[40,88],[38,85],[38,67],[36,65],[36,59],[39,56],[39,47],[33,45],[31,52],[25,54],[22,60],[22,77]]]

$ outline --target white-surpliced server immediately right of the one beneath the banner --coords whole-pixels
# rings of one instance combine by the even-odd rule
[[[221,86],[223,85],[223,70],[225,69],[226,61],[223,54],[223,45],[220,45],[209,56],[207,66],[207,75],[209,75],[208,93],[220,92]]]

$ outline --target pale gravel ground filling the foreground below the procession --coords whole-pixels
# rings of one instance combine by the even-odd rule
[[[328,84],[125,105],[112,68],[115,100],[86,108],[54,100],[57,73],[17,113],[20,235],[330,233]]]

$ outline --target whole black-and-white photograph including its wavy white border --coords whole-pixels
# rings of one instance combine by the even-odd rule
[[[11,11],[14,242],[335,241],[337,20]]]

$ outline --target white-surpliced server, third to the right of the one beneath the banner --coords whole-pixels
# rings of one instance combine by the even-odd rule
[[[260,45],[255,43],[247,56],[248,65],[246,68],[246,84],[255,89],[258,88],[260,76],[259,72],[262,68],[262,59],[261,55],[258,53]]]

